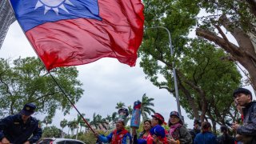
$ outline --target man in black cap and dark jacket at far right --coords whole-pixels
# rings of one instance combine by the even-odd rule
[[[246,141],[250,139],[250,142],[244,143],[256,143],[256,102],[253,102],[250,90],[245,88],[234,90],[233,97],[234,101],[242,107],[243,124],[240,126],[238,123],[233,123],[232,129],[237,132],[239,138],[242,138],[241,141],[243,138]]]

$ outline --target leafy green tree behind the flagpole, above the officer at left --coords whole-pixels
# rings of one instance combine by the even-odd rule
[[[50,72],[72,102],[78,102],[83,90],[75,67],[56,68]],[[50,77],[38,58],[0,59],[1,115],[18,113],[25,103],[34,102],[37,112],[53,117],[57,109],[70,110],[70,102]]]

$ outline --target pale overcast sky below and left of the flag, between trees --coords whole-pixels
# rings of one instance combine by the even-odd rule
[[[0,50],[0,58],[16,59],[28,56],[37,55],[25,34],[22,33],[18,22],[14,22]],[[77,68],[78,79],[83,83],[84,94],[76,106],[81,113],[86,114],[86,118],[92,119],[94,112],[106,117],[107,114],[117,111],[114,107],[118,102],[125,102],[126,106],[132,106],[134,101],[142,99],[144,93],[154,98],[154,110],[162,114],[166,122],[170,111],[177,110],[172,94],[169,94],[167,90],[159,90],[145,78],[146,74],[139,67],[139,59],[134,67],[122,64],[114,58],[102,58],[96,62],[77,66]],[[182,110],[182,115],[185,116],[185,122],[192,127],[193,121],[186,117],[184,110]],[[43,119],[43,115],[40,114],[36,117]],[[53,125],[60,127],[59,122],[63,118],[73,120],[77,118],[77,112],[71,110],[70,114],[64,117],[62,112],[58,111]]]

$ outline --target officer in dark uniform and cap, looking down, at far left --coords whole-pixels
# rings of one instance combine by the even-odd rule
[[[38,125],[38,120],[31,117],[35,109],[34,104],[27,103],[19,114],[1,119],[0,142],[2,144],[38,142],[42,137],[42,129]]]

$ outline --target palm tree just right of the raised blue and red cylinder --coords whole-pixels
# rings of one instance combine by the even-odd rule
[[[142,96],[142,121],[148,119],[147,114],[155,113],[154,110],[150,106],[154,106],[154,98],[149,98],[146,94]]]

